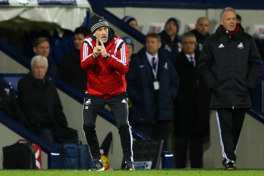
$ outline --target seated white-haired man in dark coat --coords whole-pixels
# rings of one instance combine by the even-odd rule
[[[77,131],[68,127],[54,83],[45,77],[48,60],[37,55],[31,72],[18,81],[18,102],[30,121],[31,131],[49,143],[73,142]]]

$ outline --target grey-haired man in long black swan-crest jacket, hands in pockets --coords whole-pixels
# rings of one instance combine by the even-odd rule
[[[252,36],[236,24],[234,9],[220,15],[220,26],[204,42],[199,71],[211,89],[210,108],[215,109],[223,153],[223,165],[235,170],[235,150],[246,110],[251,108],[249,92],[254,88],[261,58]]]

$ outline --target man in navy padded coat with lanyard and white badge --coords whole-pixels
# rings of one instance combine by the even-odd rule
[[[179,78],[160,47],[158,34],[146,36],[145,47],[129,62],[126,82],[133,104],[132,125],[167,146],[168,122],[173,119],[170,103],[178,93]]]

